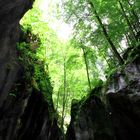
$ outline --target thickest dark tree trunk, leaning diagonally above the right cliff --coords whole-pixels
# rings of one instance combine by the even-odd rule
[[[103,30],[103,33],[104,33],[104,36],[105,36],[106,40],[107,40],[108,43],[110,44],[112,53],[113,53],[113,54],[115,55],[115,57],[119,60],[119,63],[120,63],[120,64],[124,64],[124,61],[123,61],[122,57],[121,57],[120,54],[118,53],[118,51],[117,51],[115,45],[113,44],[111,38],[110,38],[109,35],[108,35],[107,30],[106,30],[106,28],[104,27],[104,25],[103,25],[103,23],[102,23],[102,21],[101,21],[99,15],[98,15],[98,13],[96,12],[96,9],[95,9],[95,7],[94,7],[94,5],[93,5],[93,2],[90,2],[90,5],[91,5],[91,7],[93,8],[94,14],[95,14],[95,16],[96,16],[96,18],[97,18],[97,20],[98,20],[98,22],[99,22],[99,24],[100,24],[102,30]]]

